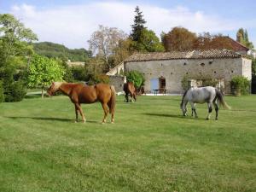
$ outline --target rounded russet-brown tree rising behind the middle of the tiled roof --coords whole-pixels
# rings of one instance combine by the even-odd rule
[[[167,51],[184,51],[193,49],[197,37],[183,27],[174,27],[172,31],[162,34],[162,42]]]

